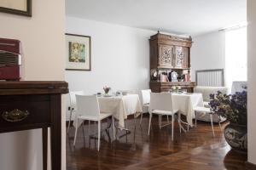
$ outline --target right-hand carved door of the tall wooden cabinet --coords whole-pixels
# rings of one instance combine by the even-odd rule
[[[173,67],[189,68],[189,48],[176,46],[173,58]]]

